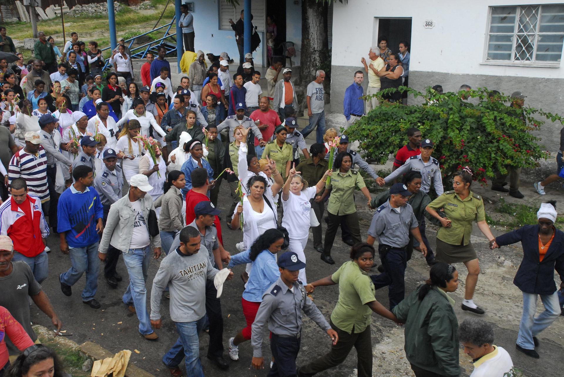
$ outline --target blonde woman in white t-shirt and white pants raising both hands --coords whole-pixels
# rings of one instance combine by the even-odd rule
[[[291,252],[298,254],[298,259],[305,263],[306,254],[303,253],[310,234],[310,199],[315,198],[325,187],[327,176],[331,176],[332,170],[327,170],[323,178],[313,187],[307,187],[307,181],[296,172],[296,164],[290,169],[288,179],[282,187],[282,207],[284,217],[282,226],[288,230],[290,244],[288,248]],[[306,283],[306,269],[299,270],[299,280]]]

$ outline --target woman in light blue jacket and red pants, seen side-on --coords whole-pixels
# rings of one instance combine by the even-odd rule
[[[263,177],[257,178],[256,182],[265,180]],[[254,178],[249,181],[252,185],[251,182],[255,182]],[[235,337],[229,339],[229,357],[231,357],[231,360],[239,360],[239,344],[251,338],[251,327],[255,316],[257,316],[258,307],[261,306],[262,294],[280,277],[280,271],[276,264],[276,254],[282,249],[285,242],[288,242],[288,234],[283,234],[274,227],[258,236],[249,250],[231,257],[231,262],[227,268],[233,268],[244,263],[251,264],[249,281],[245,285],[241,299],[247,325]]]

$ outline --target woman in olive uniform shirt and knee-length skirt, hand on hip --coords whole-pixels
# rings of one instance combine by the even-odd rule
[[[472,222],[475,220],[483,235],[490,240],[493,237],[490,226],[486,222],[486,212],[482,198],[470,191],[472,184],[472,170],[465,167],[455,173],[453,191],[447,191],[437,199],[431,201],[426,210],[436,217],[442,227],[437,232],[437,255],[435,259],[444,263],[462,262],[468,268],[462,310],[483,314],[482,308],[474,304],[473,296],[480,264],[478,256],[470,242]],[[437,210],[444,209],[446,217],[440,217]]]

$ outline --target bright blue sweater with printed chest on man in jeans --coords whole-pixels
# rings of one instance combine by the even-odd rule
[[[71,185],[59,198],[57,230],[67,232],[71,248],[85,248],[98,242],[96,222],[103,217],[104,208],[94,188],[87,187],[85,192],[80,192]]]

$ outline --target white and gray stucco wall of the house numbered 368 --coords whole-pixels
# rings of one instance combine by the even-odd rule
[[[530,5],[531,1],[475,0],[421,2],[404,0],[399,7],[384,7],[374,0],[349,0],[334,3],[331,110],[341,113],[345,89],[356,70],[363,70],[360,58],[368,60],[368,51],[377,43],[378,17],[411,17],[411,62],[409,86],[417,90],[441,84],[444,91],[457,91],[461,84],[487,87],[504,92],[522,91],[526,104],[551,113],[562,111],[564,68],[484,64],[487,40],[488,7]],[[543,1],[538,4],[562,3]],[[434,28],[424,28],[426,20]],[[356,38],[351,36],[355,35]],[[397,50],[396,46],[390,46]],[[368,79],[365,75],[364,88]],[[413,101],[413,100],[412,100]],[[561,124],[548,124],[540,131],[550,151],[559,149]]]

